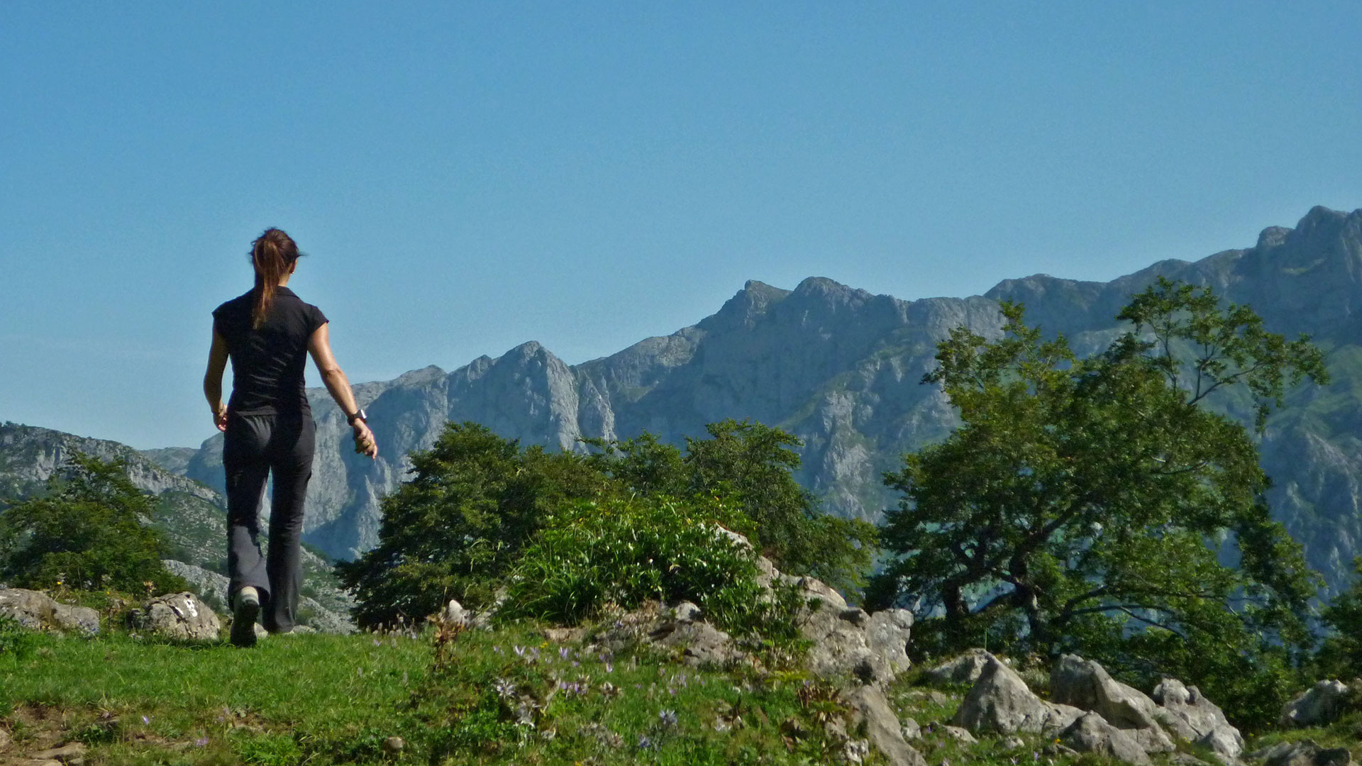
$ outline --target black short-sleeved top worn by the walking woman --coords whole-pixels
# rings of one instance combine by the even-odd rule
[[[311,413],[302,368],[308,338],[327,323],[321,309],[289,288],[274,292],[270,315],[259,330],[251,327],[255,290],[212,309],[212,328],[227,341],[232,358],[232,399],[237,414]]]

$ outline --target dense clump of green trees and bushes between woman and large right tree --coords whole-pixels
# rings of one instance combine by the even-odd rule
[[[567,622],[606,601],[643,598],[708,600],[714,615],[750,612],[735,586],[707,590],[738,579],[706,568],[719,566],[711,557],[719,542],[686,525],[720,523],[787,574],[854,587],[874,527],[819,512],[791,474],[798,455],[789,447],[798,440],[750,423],[725,421],[708,432],[711,439],[686,440],[685,457],[650,433],[587,440],[599,451],[579,455],[520,448],[475,423],[447,425],[430,450],[411,455],[414,478],[384,499],[379,545],[336,564],[355,593],[355,620],[419,620],[451,598],[482,609],[505,585],[518,589],[512,602],[533,600],[523,613]],[[704,557],[688,557],[682,542]],[[512,571],[523,579],[511,583]],[[723,607],[725,598],[733,605]]]

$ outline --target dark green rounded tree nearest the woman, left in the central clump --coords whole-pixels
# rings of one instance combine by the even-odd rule
[[[411,463],[414,478],[383,500],[379,545],[336,564],[361,626],[421,619],[449,598],[489,605],[545,519],[607,482],[580,455],[522,450],[475,423],[445,425]]]

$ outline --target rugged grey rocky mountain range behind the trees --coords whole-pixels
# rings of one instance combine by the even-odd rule
[[[997,301],[1022,301],[1028,323],[1092,353],[1124,330],[1114,316],[1129,296],[1159,275],[1209,285],[1250,304],[1268,330],[1309,334],[1328,352],[1333,383],[1293,391],[1260,448],[1275,515],[1336,590],[1362,553],[1362,210],[1324,207],[1293,229],[1264,229],[1253,247],[1163,260],[1110,282],[1042,274],[1005,279],[983,296],[906,301],[819,277],[793,290],[752,281],[691,327],[582,364],[527,342],[452,372],[426,367],[361,383],[355,395],[380,447],[373,462],[349,448],[349,428],[326,391],[309,390],[317,457],[305,540],[345,559],[375,545],[381,497],[406,477],[407,454],[429,447],[451,420],[583,450],[580,438],[648,431],[682,443],[708,423],[750,418],[804,442],[798,478],[828,512],[874,521],[896,502],[881,474],[957,423],[940,390],[921,384],[952,327],[996,335]],[[1248,401],[1218,406],[1249,417]],[[199,448],[144,453],[218,491],[221,455],[221,435]]]

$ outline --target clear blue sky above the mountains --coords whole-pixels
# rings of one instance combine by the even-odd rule
[[[128,7],[132,7],[129,10]],[[353,380],[569,363],[761,279],[1110,279],[1362,207],[1344,3],[0,4],[0,420],[212,433],[289,230]]]

